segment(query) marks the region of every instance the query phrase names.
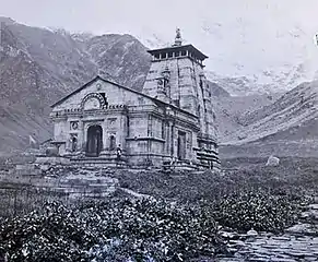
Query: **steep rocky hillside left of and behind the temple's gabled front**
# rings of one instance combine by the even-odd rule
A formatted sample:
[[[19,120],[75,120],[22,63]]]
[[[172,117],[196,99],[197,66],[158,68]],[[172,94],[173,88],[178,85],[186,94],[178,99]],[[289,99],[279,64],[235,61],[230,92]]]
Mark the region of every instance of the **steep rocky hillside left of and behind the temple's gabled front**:
[[[0,152],[27,146],[30,135],[50,138],[49,106],[96,74],[142,87],[150,57],[130,35],[70,35],[0,22]]]

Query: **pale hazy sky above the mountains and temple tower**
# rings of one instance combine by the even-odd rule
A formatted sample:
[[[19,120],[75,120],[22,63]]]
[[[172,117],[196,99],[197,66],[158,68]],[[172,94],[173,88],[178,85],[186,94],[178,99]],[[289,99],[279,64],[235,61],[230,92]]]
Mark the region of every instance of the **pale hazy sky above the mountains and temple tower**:
[[[129,33],[150,47],[153,35],[172,41],[178,26],[210,57],[209,70],[222,74],[299,63],[311,74],[318,70],[318,0],[0,0],[0,16],[71,32]]]

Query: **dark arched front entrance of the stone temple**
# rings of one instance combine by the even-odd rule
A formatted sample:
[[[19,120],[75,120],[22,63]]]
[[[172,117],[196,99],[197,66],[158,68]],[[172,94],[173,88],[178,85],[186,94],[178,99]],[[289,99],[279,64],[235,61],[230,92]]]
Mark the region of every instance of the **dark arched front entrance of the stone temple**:
[[[86,156],[99,156],[103,148],[103,129],[92,126],[87,130]]]

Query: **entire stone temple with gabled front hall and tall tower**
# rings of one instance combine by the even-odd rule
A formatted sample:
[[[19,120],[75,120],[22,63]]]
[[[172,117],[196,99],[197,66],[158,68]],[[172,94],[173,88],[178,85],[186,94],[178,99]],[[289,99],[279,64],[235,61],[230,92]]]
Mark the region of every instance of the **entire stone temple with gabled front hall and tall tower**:
[[[203,71],[208,57],[182,45],[179,29],[173,46],[149,52],[142,92],[96,76],[51,106],[60,156],[74,163],[220,168]]]

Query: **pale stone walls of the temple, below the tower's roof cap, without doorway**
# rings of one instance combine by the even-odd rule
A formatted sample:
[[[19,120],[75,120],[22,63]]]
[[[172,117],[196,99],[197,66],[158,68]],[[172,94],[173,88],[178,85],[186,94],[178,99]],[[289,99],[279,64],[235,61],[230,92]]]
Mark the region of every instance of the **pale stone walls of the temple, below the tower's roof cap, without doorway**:
[[[153,61],[144,93],[154,98],[157,98],[157,78],[163,67],[170,71],[169,96],[178,99],[177,106],[162,104],[98,78],[56,104],[51,118],[54,140],[64,142],[60,154],[84,157],[92,126],[101,127],[103,132],[103,143],[98,140],[98,144],[103,144],[104,158],[116,154],[119,144],[128,162],[133,156],[140,158],[131,163],[149,162],[150,154],[156,163],[168,157],[193,160],[197,156],[193,148],[211,150],[215,133],[202,64],[188,57]],[[215,146],[213,150],[217,151]]]

